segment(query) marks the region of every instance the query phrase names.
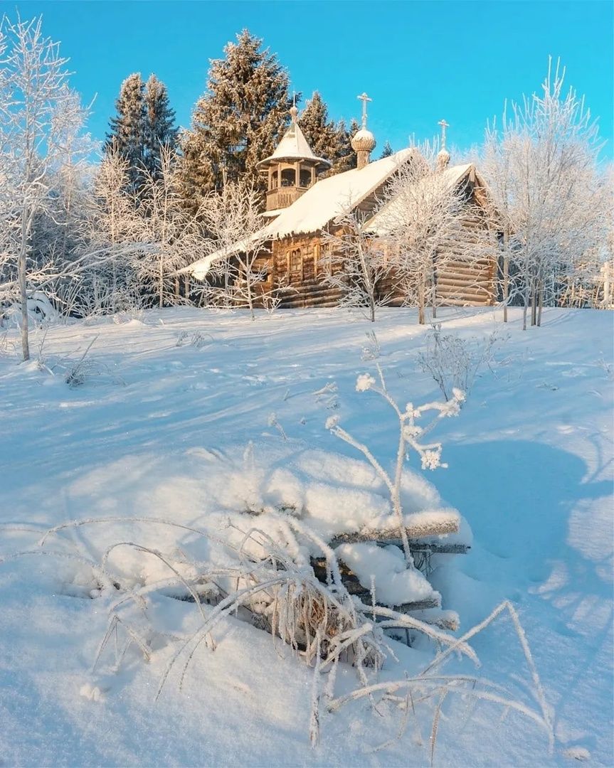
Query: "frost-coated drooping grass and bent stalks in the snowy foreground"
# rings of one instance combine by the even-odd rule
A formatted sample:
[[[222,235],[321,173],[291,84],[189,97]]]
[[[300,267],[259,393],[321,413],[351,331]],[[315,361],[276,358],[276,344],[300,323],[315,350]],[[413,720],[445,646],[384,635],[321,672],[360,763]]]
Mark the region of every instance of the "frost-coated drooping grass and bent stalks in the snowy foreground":
[[[197,663],[197,650],[208,648],[214,652],[215,637],[224,638],[225,622],[236,615],[267,628],[313,667],[310,697],[313,744],[317,743],[325,717],[352,702],[367,700],[378,720],[383,708],[389,714],[398,713],[399,737],[410,719],[416,724],[430,720],[432,763],[441,708],[447,697],[454,696],[490,701],[504,712],[521,713],[543,727],[552,742],[552,715],[518,615],[508,601],[462,637],[455,637],[416,617],[385,606],[365,604],[350,595],[340,578],[337,554],[296,516],[265,511],[257,518],[244,514],[233,519],[223,536],[220,531],[199,530],[155,518],[72,521],[48,531],[38,542],[38,548],[0,558],[0,563],[38,554],[74,562],[75,568],[83,572],[89,570],[87,594],[108,608],[108,626],[95,655],[94,669],[110,662],[111,671],[117,671],[131,649],[146,661],[154,660],[161,652],[168,662],[161,675],[158,696],[171,678],[176,679],[180,687],[186,684],[191,665]],[[85,556],[63,548],[58,541],[61,531],[118,523],[128,525],[131,537],[137,541],[115,541],[98,560],[91,559],[89,547]],[[227,560],[225,563],[201,562],[188,557],[180,548],[162,552],[138,544],[140,525],[144,525],[141,534],[151,527],[162,527],[169,532],[181,531],[192,540],[194,536],[205,538],[207,547],[221,547],[227,553]],[[275,530],[277,535],[271,535]],[[52,544],[54,538],[55,545]],[[77,539],[69,537],[65,545],[69,545],[69,541]],[[301,551],[304,553],[310,547],[320,548],[326,554],[330,573],[327,583],[315,578],[300,557]],[[140,558],[141,568],[146,562],[150,578],[144,581],[127,578],[121,568],[122,558],[116,559],[119,552],[124,553],[123,558],[127,552]],[[174,611],[164,614],[160,601],[171,597],[188,599],[194,604],[197,625],[193,631],[186,634],[181,627],[169,631],[168,617],[178,614]],[[533,703],[514,697],[505,688],[476,674],[446,675],[443,672],[445,664],[456,657],[479,664],[470,641],[504,614],[512,621],[529,670]],[[401,676],[394,677],[391,673],[398,660],[394,641],[386,636],[389,627],[407,627],[432,638],[436,653],[430,659],[420,660],[411,676],[401,670]],[[164,650],[169,646],[174,648],[170,657]],[[348,685],[345,674],[343,686],[337,690],[337,674],[342,669],[349,670],[349,665],[356,675],[356,684]],[[387,674],[380,675],[383,667]]]

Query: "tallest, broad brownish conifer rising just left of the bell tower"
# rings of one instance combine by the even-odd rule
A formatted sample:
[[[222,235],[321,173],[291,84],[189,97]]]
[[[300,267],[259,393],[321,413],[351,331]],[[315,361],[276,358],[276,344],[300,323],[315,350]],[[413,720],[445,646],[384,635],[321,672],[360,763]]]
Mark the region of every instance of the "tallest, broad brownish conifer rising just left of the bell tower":
[[[182,137],[184,194],[196,205],[224,181],[261,184],[256,164],[272,154],[288,124],[287,72],[245,29],[211,61],[207,91]]]

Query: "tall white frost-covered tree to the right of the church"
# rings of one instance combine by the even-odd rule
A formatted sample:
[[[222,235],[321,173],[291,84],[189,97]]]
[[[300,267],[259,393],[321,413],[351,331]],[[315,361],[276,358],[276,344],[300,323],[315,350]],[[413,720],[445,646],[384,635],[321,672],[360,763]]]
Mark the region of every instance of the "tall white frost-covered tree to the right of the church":
[[[539,325],[560,277],[605,244],[606,195],[596,121],[565,71],[549,63],[542,93],[523,98],[486,131],[483,173],[503,229],[503,302],[516,296]],[[511,277],[510,277],[511,276]]]

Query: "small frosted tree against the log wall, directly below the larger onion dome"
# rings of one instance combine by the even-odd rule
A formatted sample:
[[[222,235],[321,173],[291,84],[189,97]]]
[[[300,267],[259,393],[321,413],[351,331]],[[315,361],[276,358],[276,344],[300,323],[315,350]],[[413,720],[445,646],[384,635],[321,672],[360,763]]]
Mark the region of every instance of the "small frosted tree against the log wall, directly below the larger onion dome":
[[[377,306],[390,300],[383,290],[390,262],[383,243],[370,233],[367,219],[360,210],[352,210],[337,217],[324,233],[322,245],[329,254],[324,281],[340,291],[340,306],[360,307],[374,323]]]

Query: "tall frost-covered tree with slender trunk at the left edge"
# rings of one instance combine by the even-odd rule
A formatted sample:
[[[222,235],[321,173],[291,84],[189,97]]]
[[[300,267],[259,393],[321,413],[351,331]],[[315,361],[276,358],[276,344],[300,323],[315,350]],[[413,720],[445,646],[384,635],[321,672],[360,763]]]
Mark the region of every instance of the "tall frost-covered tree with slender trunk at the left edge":
[[[0,293],[21,305],[22,353],[30,356],[28,300],[57,280],[61,263],[39,263],[35,223],[57,206],[58,174],[83,161],[85,111],[68,87],[67,59],[41,18],[0,26]],[[89,148],[89,147],[88,147]],[[68,180],[68,177],[66,177]]]

